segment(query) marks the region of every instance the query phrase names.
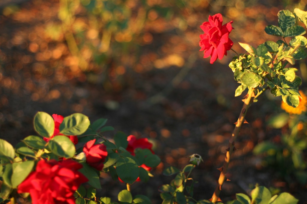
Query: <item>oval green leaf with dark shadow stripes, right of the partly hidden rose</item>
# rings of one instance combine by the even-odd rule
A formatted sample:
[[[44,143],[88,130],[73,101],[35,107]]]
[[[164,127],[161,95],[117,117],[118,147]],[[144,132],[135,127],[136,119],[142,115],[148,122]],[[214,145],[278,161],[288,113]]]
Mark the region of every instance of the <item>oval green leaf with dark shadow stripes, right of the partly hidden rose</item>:
[[[87,116],[81,113],[74,113],[63,119],[60,124],[60,133],[64,135],[80,135],[87,130],[89,125],[90,120]]]

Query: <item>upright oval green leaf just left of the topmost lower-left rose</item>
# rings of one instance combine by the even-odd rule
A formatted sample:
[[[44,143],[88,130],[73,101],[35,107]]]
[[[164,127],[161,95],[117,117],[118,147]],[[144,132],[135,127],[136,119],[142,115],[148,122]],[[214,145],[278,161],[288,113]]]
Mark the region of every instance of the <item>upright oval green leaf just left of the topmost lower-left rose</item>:
[[[54,119],[45,112],[37,112],[34,116],[34,129],[38,134],[49,138],[54,132]]]

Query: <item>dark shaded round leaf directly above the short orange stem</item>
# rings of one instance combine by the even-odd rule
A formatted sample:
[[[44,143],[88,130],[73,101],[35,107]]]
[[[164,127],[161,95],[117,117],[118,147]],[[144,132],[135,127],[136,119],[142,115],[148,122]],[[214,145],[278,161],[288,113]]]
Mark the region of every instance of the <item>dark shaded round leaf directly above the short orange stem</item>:
[[[138,164],[130,157],[119,158],[116,163],[116,173],[125,183],[134,183],[140,174]]]

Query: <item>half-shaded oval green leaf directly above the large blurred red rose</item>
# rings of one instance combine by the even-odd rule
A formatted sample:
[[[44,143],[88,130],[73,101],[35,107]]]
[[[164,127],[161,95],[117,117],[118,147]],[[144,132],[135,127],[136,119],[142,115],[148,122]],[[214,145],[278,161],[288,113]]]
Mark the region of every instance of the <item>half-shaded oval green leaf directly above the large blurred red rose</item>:
[[[76,153],[74,143],[64,135],[58,135],[49,140],[48,147],[59,157],[72,158]]]

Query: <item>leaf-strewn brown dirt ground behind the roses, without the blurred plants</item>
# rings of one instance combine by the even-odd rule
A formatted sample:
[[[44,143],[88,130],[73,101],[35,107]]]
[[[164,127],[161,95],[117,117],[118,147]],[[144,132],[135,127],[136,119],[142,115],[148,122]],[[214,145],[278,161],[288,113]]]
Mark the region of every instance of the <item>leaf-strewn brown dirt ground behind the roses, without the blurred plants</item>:
[[[57,20],[56,0],[24,2],[17,5],[16,13],[1,15],[0,137],[15,145],[22,138],[35,135],[33,116],[37,111],[64,116],[81,112],[91,121],[107,118],[107,124],[115,130],[150,138],[162,160],[163,164],[153,171],[155,178],[148,184],[132,185],[132,192],[161,203],[157,187],[171,179],[161,175],[163,168],[169,165],[182,168],[188,164],[189,155],[198,153],[204,163],[192,174],[199,181],[195,197],[210,198],[219,176],[216,168],[223,161],[242,97],[234,97],[237,84],[227,65],[233,53],[209,64],[209,59],[203,59],[203,53],[198,51],[201,34],[198,26],[208,19],[208,14],[226,13],[227,20],[234,20],[234,49],[242,52],[238,41],[257,45],[264,39],[277,40],[263,29],[276,24],[278,10],[285,8],[279,1],[259,1],[242,10],[238,6],[216,6],[214,2],[217,1],[188,14],[196,22],[185,32],[175,29],[155,32],[152,28],[153,40],[141,47],[138,62],[146,69],[136,71],[135,67],[128,67],[119,89],[107,89],[101,81],[91,80],[93,75],[99,78],[103,73],[73,71],[73,59],[65,41],[52,41],[45,36],[45,25]],[[60,57],[55,56],[56,49],[62,49]],[[185,63],[157,68],[158,62],[172,54]],[[263,95],[249,109],[249,124],[244,124],[236,143],[238,150],[227,176],[231,181],[223,186],[223,201],[234,199],[235,193],[249,193],[258,183],[290,192],[300,203],[307,203],[306,186],[295,180],[286,182],[273,169],[262,168],[260,158],[251,152],[258,142],[281,134],[280,130],[266,126],[267,117],[281,111],[280,100]],[[117,195],[125,188],[108,176],[102,182],[111,186],[103,187],[100,193],[104,196]]]

